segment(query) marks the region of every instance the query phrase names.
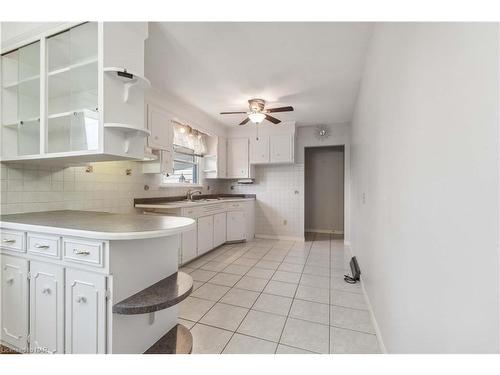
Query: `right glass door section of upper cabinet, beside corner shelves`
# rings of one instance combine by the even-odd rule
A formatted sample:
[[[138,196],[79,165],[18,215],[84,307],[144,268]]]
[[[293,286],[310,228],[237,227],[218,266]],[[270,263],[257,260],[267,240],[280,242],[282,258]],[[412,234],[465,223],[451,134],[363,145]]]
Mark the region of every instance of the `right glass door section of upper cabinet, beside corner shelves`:
[[[47,38],[47,153],[98,149],[97,43],[97,22]]]

